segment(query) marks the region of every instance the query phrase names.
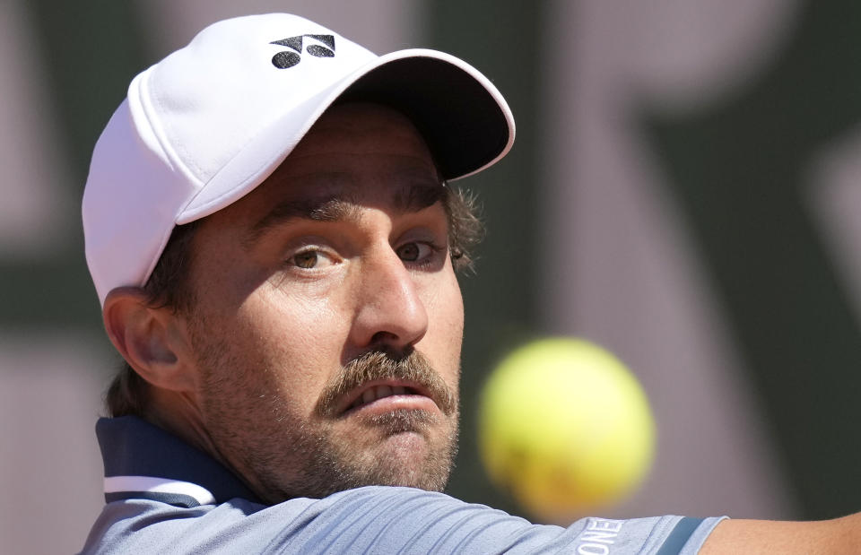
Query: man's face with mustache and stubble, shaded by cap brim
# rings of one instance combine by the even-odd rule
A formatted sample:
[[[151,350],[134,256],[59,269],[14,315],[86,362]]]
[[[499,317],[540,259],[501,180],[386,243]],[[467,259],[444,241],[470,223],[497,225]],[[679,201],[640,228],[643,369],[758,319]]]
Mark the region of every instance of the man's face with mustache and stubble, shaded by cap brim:
[[[200,420],[264,499],[444,487],[464,316],[444,194],[405,117],[345,104],[196,232]]]

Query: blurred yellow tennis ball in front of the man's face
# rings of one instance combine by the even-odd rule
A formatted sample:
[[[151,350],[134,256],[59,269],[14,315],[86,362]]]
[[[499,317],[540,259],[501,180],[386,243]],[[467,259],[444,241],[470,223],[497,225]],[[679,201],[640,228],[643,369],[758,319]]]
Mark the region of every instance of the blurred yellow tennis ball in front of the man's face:
[[[491,481],[545,522],[631,493],[651,466],[655,423],[637,379],[587,341],[513,351],[483,387],[479,442]]]

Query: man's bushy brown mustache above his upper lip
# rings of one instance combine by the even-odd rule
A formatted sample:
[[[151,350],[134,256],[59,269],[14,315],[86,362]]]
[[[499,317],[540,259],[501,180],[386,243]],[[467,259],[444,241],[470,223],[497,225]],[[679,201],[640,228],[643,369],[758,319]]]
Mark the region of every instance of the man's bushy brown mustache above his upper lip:
[[[457,410],[457,395],[439,377],[431,361],[419,351],[398,354],[388,351],[369,351],[345,364],[323,388],[317,401],[319,416],[338,415],[338,401],[352,390],[372,380],[398,379],[421,386],[443,414]]]

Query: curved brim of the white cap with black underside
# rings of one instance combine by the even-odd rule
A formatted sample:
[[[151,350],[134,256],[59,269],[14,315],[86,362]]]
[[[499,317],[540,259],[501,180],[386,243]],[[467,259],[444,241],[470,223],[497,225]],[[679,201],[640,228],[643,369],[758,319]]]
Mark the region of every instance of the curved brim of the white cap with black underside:
[[[410,117],[446,180],[487,168],[514,143],[511,110],[483,74],[443,52],[400,50],[378,57],[275,119],[181,209],[177,223],[203,218],[247,195],[277,169],[327,108],[348,100],[385,104]]]

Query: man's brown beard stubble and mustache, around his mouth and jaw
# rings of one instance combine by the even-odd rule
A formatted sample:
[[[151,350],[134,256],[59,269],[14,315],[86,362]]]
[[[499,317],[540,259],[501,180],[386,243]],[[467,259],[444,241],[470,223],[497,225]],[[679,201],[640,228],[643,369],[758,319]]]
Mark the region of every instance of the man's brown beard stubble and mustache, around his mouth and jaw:
[[[206,429],[222,461],[261,499],[321,499],[368,485],[445,488],[457,455],[457,391],[419,351],[370,351],[351,360],[326,384],[308,418],[265,379],[277,375],[271,369],[237,372],[244,367],[230,360],[223,343],[195,346],[205,369]],[[386,378],[422,386],[439,413],[398,410],[344,430],[344,415],[335,410],[341,395]]]

